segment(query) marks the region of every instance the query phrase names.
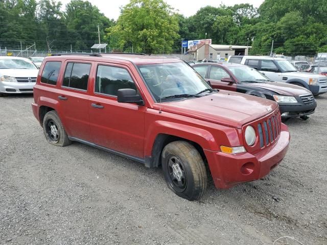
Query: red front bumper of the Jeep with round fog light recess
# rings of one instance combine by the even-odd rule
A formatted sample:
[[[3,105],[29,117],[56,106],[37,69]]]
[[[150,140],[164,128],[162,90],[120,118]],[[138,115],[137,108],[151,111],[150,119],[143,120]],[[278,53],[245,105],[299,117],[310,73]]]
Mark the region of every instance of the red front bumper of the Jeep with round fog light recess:
[[[204,150],[217,188],[230,188],[238,183],[259,180],[283,160],[288,150],[290,134],[282,124],[278,140],[258,154],[227,154]]]

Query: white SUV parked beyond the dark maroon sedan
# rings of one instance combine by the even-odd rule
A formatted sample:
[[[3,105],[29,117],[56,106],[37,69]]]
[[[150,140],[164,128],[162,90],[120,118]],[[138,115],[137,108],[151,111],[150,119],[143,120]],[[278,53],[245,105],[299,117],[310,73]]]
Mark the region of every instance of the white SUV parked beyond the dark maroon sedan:
[[[248,65],[272,81],[291,83],[310,90],[313,95],[327,92],[327,78],[309,72],[299,72],[289,61],[266,56],[230,56],[228,62]]]

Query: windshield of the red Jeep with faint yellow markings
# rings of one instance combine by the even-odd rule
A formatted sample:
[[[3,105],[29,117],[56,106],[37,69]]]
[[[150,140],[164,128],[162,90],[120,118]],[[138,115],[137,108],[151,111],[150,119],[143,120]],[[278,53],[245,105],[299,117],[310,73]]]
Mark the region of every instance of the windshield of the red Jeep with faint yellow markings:
[[[183,100],[185,97],[199,97],[213,92],[203,78],[184,62],[146,64],[137,67],[157,102],[160,98],[173,99],[172,96],[176,95],[185,95],[175,98]]]

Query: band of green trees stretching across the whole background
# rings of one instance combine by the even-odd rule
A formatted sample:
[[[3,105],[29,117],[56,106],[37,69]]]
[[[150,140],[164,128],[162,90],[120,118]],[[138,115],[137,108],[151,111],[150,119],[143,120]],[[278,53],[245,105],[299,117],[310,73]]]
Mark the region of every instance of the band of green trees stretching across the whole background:
[[[131,0],[115,22],[87,1],[62,10],[56,0],[0,0],[0,46],[20,49],[36,42],[48,49],[89,51],[98,41],[123,51],[180,52],[181,38],[211,38],[216,44],[251,45],[251,54],[315,55],[327,51],[327,0],[265,0],[200,8],[185,17],[165,0]],[[251,41],[253,37],[253,41]]]

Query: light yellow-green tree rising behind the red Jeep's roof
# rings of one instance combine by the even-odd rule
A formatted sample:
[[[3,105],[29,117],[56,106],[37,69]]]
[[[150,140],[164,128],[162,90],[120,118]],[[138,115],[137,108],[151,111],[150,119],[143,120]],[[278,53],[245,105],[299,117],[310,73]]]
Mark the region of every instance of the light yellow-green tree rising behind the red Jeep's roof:
[[[163,0],[131,0],[121,9],[117,24],[107,29],[110,45],[145,53],[172,51],[179,38],[178,20]]]

